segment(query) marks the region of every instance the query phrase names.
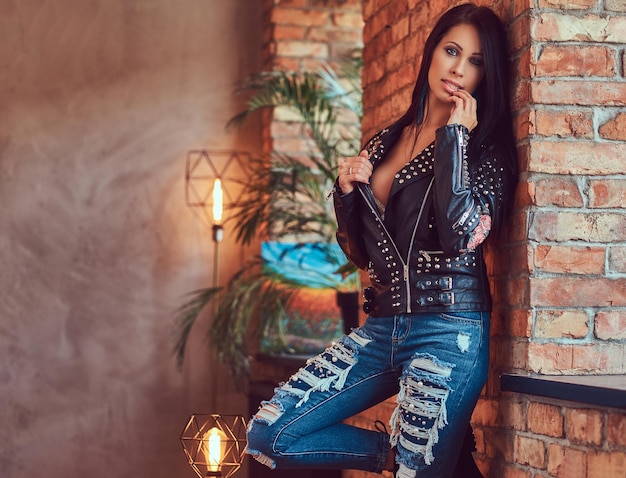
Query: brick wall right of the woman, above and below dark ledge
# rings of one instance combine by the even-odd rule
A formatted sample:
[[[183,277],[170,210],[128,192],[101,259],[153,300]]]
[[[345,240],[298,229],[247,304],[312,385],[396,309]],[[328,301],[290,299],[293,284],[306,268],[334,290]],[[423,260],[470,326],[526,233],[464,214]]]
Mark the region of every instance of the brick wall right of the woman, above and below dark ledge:
[[[493,255],[500,306],[478,458],[494,477],[621,477],[623,411],[502,393],[498,374],[625,371],[626,4],[510,8],[523,175],[511,242]]]

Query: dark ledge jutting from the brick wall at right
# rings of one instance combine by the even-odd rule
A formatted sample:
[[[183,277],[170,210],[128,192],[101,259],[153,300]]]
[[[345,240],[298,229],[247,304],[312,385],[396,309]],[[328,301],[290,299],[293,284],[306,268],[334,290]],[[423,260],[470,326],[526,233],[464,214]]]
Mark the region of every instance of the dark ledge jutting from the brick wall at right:
[[[626,375],[500,375],[506,392],[626,409]]]

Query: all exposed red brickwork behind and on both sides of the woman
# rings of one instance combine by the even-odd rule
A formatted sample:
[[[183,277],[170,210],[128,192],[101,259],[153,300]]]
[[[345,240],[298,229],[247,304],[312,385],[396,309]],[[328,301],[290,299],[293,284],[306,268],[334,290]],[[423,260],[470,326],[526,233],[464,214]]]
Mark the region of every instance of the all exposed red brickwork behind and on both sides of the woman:
[[[267,68],[315,69],[360,43],[368,137],[410,101],[434,19],[459,1],[267,0]],[[509,240],[490,251],[492,372],[474,414],[493,478],[626,474],[623,411],[501,392],[507,371],[623,374],[626,343],[626,4],[478,1],[510,29],[521,184]],[[269,121],[272,118],[268,118]],[[297,153],[275,114],[266,151]],[[301,138],[300,138],[301,139]],[[372,427],[393,401],[355,417]],[[346,471],[345,478],[375,477]]]

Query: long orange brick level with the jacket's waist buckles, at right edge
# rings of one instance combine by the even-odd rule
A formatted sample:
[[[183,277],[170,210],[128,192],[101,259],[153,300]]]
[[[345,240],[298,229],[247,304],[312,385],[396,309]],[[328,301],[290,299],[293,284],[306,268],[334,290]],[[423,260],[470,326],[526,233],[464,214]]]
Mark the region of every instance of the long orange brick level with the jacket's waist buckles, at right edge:
[[[530,301],[548,307],[620,307],[626,305],[626,279],[530,278]]]

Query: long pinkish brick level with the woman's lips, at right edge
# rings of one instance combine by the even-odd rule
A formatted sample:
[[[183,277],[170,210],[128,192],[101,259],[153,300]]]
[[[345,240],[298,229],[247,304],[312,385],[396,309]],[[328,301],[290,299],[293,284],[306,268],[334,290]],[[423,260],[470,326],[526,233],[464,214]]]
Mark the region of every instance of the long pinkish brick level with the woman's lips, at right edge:
[[[548,105],[626,106],[626,83],[591,80],[537,80],[530,85],[533,103]]]

